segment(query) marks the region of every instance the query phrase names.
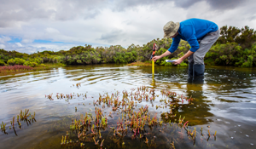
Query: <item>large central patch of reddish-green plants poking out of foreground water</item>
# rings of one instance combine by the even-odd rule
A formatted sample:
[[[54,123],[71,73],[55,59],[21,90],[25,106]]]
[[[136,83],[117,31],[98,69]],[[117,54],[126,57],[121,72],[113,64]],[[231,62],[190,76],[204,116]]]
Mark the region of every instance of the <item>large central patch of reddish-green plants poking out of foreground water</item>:
[[[80,83],[73,86],[79,88]],[[45,98],[69,103],[76,98],[87,100],[87,95],[57,93],[55,96],[45,95]],[[194,101],[192,96],[145,86],[131,89],[131,92],[99,94],[98,99],[89,104],[95,106],[94,110],[72,119],[67,133],[60,138],[60,144],[62,147],[81,148],[92,145],[98,148],[176,148],[191,142],[193,146],[200,143],[200,146],[208,147],[207,142],[216,140],[217,132],[209,127],[206,131],[202,127],[197,130],[178,112],[183,106],[194,105]],[[79,105],[85,106],[84,103]],[[79,107],[75,106],[75,112],[78,110]]]

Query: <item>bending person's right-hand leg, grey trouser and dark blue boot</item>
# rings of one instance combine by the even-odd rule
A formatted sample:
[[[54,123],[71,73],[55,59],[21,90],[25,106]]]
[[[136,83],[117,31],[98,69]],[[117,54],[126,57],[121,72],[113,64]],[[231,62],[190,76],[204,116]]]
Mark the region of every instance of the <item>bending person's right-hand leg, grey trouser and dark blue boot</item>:
[[[204,57],[211,49],[212,44],[217,41],[219,37],[219,30],[216,32],[207,33],[207,35],[201,39],[200,48],[193,54],[193,76],[203,77],[205,72]]]

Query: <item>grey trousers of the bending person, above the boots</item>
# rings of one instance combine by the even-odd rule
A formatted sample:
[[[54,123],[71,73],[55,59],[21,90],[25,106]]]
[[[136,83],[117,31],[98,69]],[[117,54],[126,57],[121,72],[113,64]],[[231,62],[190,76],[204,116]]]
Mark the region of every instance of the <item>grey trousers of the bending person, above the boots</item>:
[[[217,41],[218,37],[219,29],[216,32],[207,33],[205,37],[198,40],[199,49],[197,49],[194,54],[189,56],[189,64],[204,65],[204,57],[209,49],[211,49],[212,44]]]

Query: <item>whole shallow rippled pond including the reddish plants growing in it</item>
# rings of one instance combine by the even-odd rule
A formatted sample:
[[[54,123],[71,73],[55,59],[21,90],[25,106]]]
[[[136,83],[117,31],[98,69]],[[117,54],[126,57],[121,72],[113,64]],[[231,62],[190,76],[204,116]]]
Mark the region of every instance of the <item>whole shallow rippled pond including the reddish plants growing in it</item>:
[[[187,67],[154,72],[102,64],[0,76],[0,146],[256,146],[255,68],[207,66],[203,83],[188,82]]]

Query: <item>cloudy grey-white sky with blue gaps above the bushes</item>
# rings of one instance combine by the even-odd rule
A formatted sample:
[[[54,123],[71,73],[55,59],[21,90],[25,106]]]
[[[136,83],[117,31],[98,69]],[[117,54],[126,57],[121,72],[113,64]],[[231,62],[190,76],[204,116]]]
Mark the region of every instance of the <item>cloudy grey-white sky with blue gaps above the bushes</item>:
[[[0,49],[24,53],[91,44],[143,45],[172,20],[256,29],[255,0],[0,0]]]

